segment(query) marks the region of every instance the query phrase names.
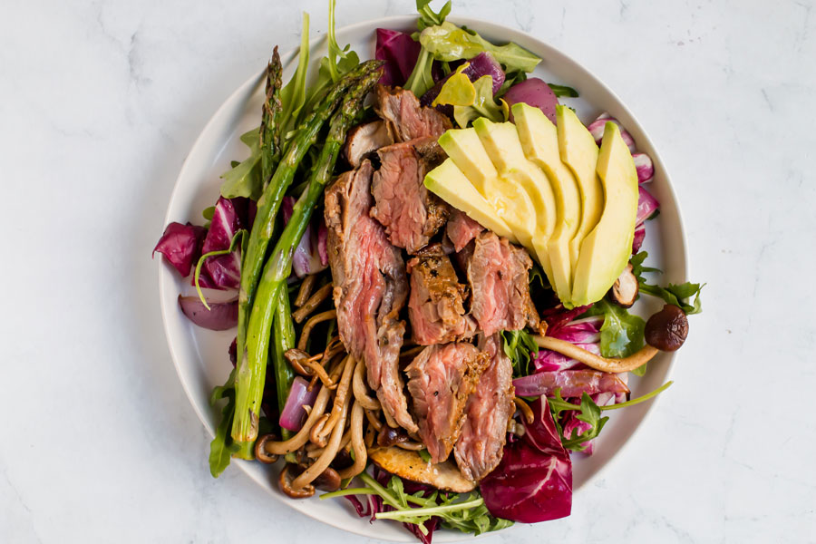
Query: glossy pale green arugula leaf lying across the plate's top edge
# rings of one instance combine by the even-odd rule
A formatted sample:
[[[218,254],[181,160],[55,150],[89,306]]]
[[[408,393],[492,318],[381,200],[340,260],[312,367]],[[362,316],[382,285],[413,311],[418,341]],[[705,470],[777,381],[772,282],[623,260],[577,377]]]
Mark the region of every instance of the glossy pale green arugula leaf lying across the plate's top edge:
[[[467,60],[487,51],[504,65],[505,72],[532,72],[541,62],[540,57],[518,44],[493,45],[479,34],[447,22],[423,29],[419,41],[437,61]]]

